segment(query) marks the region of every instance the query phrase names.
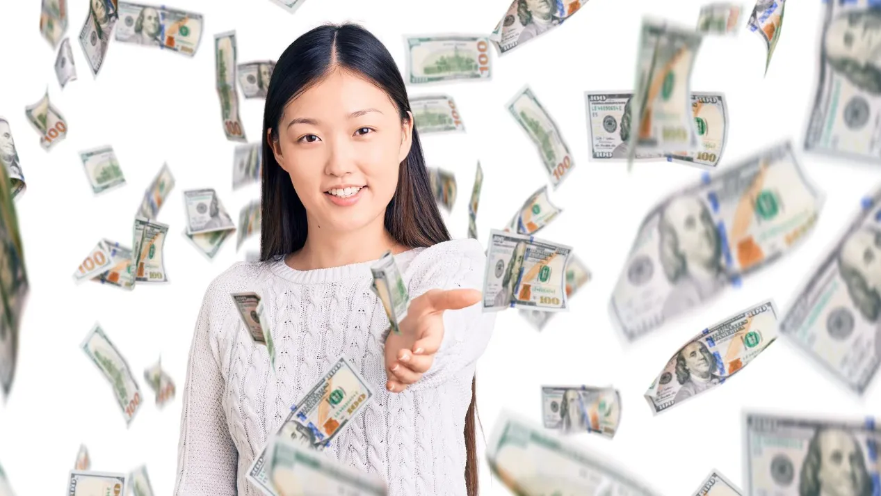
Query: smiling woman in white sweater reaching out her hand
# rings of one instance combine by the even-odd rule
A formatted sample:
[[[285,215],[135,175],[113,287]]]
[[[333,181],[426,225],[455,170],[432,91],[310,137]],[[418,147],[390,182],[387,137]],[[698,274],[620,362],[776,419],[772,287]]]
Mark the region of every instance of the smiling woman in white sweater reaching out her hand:
[[[389,494],[477,494],[476,360],[494,317],[485,255],[449,241],[389,51],[359,26],[320,26],[278,59],[263,113],[260,262],[208,288],[189,358],[175,494],[259,494],[247,470],[344,355],[374,389],[327,450]],[[411,305],[389,333],[370,265],[395,254]],[[456,289],[460,288],[460,289]],[[233,307],[263,298],[275,370]]]

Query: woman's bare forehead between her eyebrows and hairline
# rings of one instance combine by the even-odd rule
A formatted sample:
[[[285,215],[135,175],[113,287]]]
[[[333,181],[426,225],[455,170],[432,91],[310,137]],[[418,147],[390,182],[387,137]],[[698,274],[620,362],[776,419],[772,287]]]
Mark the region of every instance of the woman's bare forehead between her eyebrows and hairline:
[[[352,112],[375,108],[396,115],[389,95],[363,76],[348,70],[331,72],[291,100],[285,117],[315,117],[321,121],[344,119]]]

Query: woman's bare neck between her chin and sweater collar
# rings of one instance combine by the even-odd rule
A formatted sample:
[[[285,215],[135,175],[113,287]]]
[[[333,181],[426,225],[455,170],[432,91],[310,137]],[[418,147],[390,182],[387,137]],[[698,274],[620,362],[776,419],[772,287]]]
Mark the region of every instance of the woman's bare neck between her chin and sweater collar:
[[[285,263],[294,270],[327,269],[376,260],[389,249],[398,254],[406,248],[385,228],[385,212],[366,226],[338,231],[322,228],[308,218],[308,235],[303,248],[287,255]]]

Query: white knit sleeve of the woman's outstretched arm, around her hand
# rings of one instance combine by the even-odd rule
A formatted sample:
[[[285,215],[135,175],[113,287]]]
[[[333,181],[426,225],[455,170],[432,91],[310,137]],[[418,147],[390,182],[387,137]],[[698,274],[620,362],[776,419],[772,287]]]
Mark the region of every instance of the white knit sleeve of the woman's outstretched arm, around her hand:
[[[447,241],[426,249],[420,255],[424,260],[414,261],[418,266],[411,277],[411,298],[417,298],[431,289],[470,288],[483,291],[486,256],[478,241]],[[474,364],[489,344],[496,314],[484,313],[482,301],[459,310],[445,311],[441,349],[434,355],[432,367],[407,389],[418,391],[436,388],[463,368]]]

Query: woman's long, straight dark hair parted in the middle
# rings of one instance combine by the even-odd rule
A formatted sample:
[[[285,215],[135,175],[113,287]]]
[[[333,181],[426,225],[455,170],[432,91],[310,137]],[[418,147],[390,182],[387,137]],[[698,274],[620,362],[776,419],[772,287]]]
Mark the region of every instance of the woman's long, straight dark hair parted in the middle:
[[[293,189],[291,178],[278,165],[270,139],[278,140],[285,106],[322,81],[333,69],[349,70],[380,87],[395,103],[402,122],[410,119],[410,100],[389,50],[372,33],[353,24],[318,26],[291,43],[278,57],[266,92],[263,110],[263,227],[260,260],[277,259],[303,248],[307,237],[306,208]],[[272,130],[272,136],[268,135]],[[391,237],[409,248],[430,247],[449,241],[449,232],[434,203],[417,130],[407,158],[398,169],[397,189],[385,212]],[[478,493],[475,439],[477,384],[471,380],[471,403],[465,414],[465,485],[469,496]]]

